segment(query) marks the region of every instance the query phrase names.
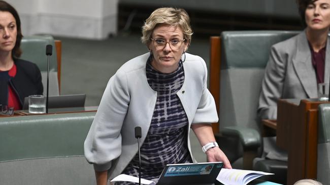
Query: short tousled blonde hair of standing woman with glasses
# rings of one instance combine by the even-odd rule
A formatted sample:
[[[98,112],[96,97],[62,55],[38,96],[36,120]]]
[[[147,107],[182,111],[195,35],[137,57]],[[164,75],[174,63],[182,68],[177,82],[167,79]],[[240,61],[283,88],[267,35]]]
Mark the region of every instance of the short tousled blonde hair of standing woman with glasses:
[[[190,27],[190,18],[185,10],[178,8],[159,8],[153,11],[142,26],[142,43],[147,46],[149,45],[152,32],[159,24],[180,26],[183,32],[183,38],[190,43],[192,29]]]

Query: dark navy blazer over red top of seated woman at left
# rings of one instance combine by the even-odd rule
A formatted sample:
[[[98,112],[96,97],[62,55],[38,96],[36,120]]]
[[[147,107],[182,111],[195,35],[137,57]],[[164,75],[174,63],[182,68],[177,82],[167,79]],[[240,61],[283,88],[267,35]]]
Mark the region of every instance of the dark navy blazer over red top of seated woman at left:
[[[32,62],[14,59],[16,75],[14,78],[0,77],[0,104],[8,105],[8,84],[14,89],[20,105],[29,95],[42,95],[44,87],[38,66]]]

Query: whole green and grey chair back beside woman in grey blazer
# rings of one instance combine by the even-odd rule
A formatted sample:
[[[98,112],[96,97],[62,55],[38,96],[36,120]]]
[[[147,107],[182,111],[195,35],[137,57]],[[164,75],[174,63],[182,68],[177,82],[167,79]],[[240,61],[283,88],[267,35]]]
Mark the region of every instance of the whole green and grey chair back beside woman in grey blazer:
[[[224,31],[221,33],[220,129],[259,130],[256,110],[261,81],[273,44],[298,31]]]

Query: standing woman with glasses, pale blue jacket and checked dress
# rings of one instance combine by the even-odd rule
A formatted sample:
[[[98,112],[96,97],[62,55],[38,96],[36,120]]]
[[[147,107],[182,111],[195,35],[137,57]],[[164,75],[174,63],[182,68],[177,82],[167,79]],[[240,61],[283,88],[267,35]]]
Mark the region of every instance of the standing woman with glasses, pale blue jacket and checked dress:
[[[195,161],[190,128],[205,146],[208,161],[231,168],[209,124],[218,115],[207,89],[205,61],[185,53],[192,35],[188,14],[159,8],[142,34],[149,52],[126,62],[110,78],[84,144],[97,184],[121,173],[138,176],[136,126],[142,127],[142,178],[157,181],[166,164]]]

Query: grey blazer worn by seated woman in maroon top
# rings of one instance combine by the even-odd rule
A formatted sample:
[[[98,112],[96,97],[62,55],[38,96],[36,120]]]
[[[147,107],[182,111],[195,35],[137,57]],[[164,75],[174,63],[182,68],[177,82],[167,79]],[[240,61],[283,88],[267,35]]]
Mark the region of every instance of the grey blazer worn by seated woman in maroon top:
[[[329,39],[326,41],[324,82],[329,82]],[[274,44],[261,84],[258,116],[277,118],[278,99],[317,98],[317,81],[306,32]]]

